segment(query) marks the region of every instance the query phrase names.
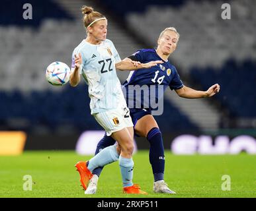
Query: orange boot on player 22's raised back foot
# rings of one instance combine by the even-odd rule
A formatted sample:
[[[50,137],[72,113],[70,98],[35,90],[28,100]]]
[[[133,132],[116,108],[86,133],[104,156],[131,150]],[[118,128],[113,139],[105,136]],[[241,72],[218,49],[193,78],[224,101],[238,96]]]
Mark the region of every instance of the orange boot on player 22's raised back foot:
[[[91,177],[93,177],[93,174],[91,173],[91,171],[89,169],[87,169],[86,166],[87,162],[83,162],[83,161],[79,161],[77,162],[77,164],[75,164],[75,167],[77,168],[77,171],[80,174],[80,182],[81,182],[81,186],[83,186],[83,189],[86,190],[89,180],[91,179]]]

